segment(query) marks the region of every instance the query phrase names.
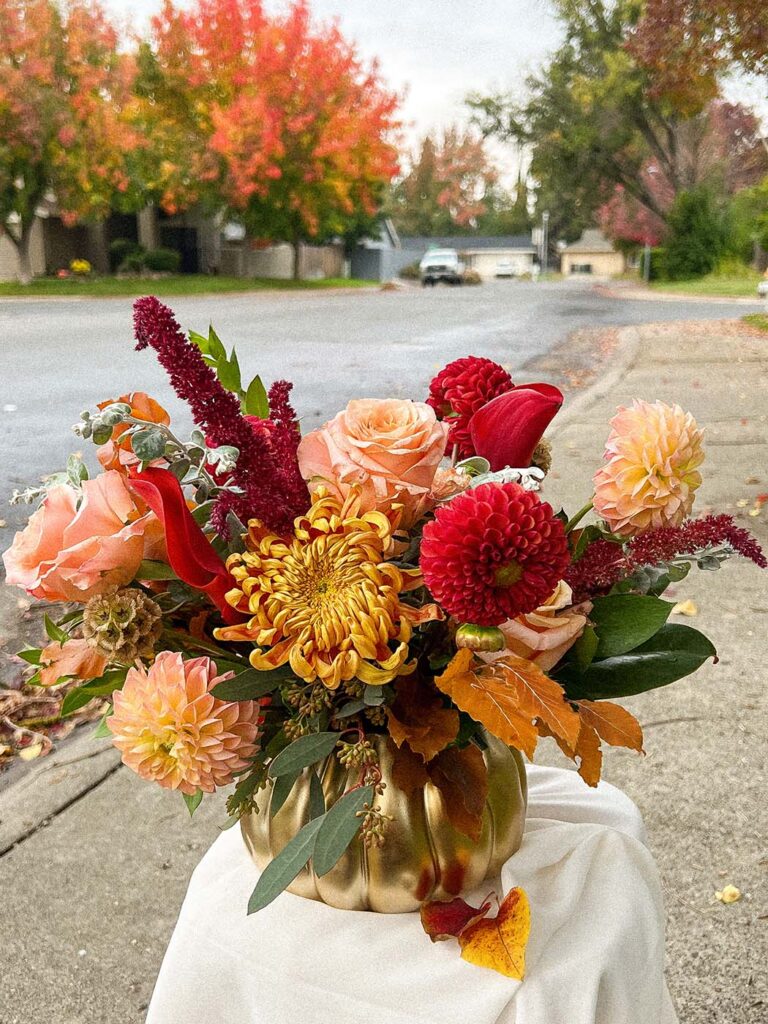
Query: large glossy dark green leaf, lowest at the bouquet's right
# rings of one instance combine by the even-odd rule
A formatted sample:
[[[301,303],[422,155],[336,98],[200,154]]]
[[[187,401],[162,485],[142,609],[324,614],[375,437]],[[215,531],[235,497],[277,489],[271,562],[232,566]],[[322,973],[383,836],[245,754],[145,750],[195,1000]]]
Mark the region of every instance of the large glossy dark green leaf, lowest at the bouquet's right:
[[[714,645],[690,626],[663,626],[625,654],[595,660],[584,675],[559,677],[573,699],[611,700],[668,686],[716,657]]]

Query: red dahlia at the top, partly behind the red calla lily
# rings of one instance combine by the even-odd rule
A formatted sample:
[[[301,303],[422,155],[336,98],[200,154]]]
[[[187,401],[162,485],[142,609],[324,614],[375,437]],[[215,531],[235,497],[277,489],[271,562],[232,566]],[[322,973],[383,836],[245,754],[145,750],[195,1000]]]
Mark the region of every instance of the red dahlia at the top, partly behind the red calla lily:
[[[469,421],[478,409],[512,387],[512,378],[493,359],[467,355],[449,362],[432,380],[427,398],[438,420],[452,417],[445,451],[453,452],[456,444],[460,458],[473,456]]]

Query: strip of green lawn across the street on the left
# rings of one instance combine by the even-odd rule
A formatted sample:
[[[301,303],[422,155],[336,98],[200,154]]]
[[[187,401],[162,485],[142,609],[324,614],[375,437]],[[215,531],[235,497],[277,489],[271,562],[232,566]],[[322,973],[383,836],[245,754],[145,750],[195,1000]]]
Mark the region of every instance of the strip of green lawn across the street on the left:
[[[133,296],[210,295],[217,292],[305,291],[326,288],[370,288],[374,281],[325,278],[322,281],[272,281],[266,278],[214,278],[208,274],[178,274],[169,278],[38,278],[31,285],[0,282],[0,298],[27,296]]]

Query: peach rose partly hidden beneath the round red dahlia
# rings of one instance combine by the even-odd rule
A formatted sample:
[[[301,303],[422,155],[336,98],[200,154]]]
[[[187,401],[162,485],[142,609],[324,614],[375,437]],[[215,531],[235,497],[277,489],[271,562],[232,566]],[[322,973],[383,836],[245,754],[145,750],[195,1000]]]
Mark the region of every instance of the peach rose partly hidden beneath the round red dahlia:
[[[573,592],[561,580],[544,604],[499,627],[507,641],[504,650],[479,656],[485,662],[495,662],[506,654],[516,654],[535,662],[543,672],[549,672],[573,646],[589,621],[592,603],[585,601],[574,605],[572,600]]]

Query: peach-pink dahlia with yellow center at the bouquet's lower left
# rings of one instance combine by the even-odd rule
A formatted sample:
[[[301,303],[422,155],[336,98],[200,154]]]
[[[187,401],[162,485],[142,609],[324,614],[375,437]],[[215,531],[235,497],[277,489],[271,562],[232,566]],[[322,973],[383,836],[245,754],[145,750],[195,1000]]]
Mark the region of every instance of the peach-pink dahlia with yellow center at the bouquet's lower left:
[[[148,671],[131,669],[106,719],[123,764],[142,778],[188,796],[227,785],[256,752],[257,701],[228,703],[211,689],[218,676],[208,657],[185,662],[163,651]]]

